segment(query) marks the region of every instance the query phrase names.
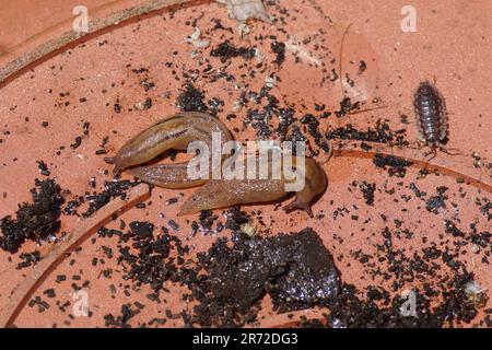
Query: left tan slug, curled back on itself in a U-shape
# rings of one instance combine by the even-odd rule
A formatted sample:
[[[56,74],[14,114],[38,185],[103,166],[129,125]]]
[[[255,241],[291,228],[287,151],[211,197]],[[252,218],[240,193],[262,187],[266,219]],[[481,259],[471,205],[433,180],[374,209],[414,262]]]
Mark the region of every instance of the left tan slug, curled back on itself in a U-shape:
[[[147,163],[167,150],[187,150],[192,141],[203,141],[212,149],[213,132],[220,133],[222,143],[232,140],[231,132],[215,117],[198,112],[176,114],[138,133],[121,147],[114,159],[107,161],[115,164],[114,173],[118,174],[131,166]],[[203,184],[203,179],[188,178],[187,164],[139,166],[131,168],[130,173],[147,183],[166,188],[187,188]]]

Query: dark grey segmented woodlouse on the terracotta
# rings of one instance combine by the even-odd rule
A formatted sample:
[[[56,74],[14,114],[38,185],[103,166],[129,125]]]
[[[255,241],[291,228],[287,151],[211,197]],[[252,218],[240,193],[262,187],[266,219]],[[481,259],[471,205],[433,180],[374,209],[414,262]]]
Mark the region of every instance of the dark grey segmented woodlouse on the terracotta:
[[[429,81],[420,83],[413,98],[419,137],[431,149],[443,148],[448,125],[444,98]]]

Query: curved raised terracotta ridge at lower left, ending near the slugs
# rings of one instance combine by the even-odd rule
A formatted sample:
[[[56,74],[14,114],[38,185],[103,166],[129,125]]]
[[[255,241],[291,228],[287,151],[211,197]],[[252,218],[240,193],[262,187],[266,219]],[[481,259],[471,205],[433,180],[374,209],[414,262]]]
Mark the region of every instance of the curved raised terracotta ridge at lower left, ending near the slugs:
[[[83,241],[91,236],[97,229],[112,220],[114,214],[119,214],[132,208],[136,203],[150,196],[150,187],[147,184],[140,184],[131,188],[126,198],[117,198],[89,219],[81,220],[77,228],[66,236],[66,240],[55,245],[55,247],[45,256],[27,275],[27,277],[12,291],[8,301],[3,303],[0,310],[0,327],[12,326],[15,317],[21,312],[31,295],[37,287],[49,276],[58,264],[60,264],[66,254],[77,248]]]

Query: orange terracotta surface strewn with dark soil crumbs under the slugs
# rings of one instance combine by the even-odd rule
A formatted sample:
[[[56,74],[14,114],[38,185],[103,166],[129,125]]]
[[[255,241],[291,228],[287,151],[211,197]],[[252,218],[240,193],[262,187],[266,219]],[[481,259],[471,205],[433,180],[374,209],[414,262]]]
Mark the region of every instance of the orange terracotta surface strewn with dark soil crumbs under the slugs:
[[[124,236],[89,230],[92,236],[44,276],[26,306],[14,307],[16,317],[9,313],[9,325],[181,327],[187,323],[223,326],[232,322],[247,327],[291,327],[320,319],[323,325],[340,326],[343,312],[359,315],[358,307],[370,301],[384,311],[406,290],[422,293],[427,285],[438,291],[438,296],[430,299],[431,307],[446,300],[461,302],[456,304],[466,313],[453,325],[484,327],[490,322],[487,296],[492,287],[488,235],[492,184],[488,144],[492,120],[485,116],[492,107],[487,86],[492,73],[477,69],[489,67],[483,37],[490,33],[480,30],[487,27],[487,12],[481,4],[470,4],[460,21],[449,26],[446,19],[454,19],[456,13],[447,2],[433,8],[422,2],[418,7],[422,19],[419,32],[408,34],[400,32],[399,9],[362,8],[356,1],[314,4],[268,4],[272,24],[251,21],[250,33],[239,38],[235,21],[220,4],[197,2],[168,10],[160,9],[160,3],[120,18],[125,21],[110,30],[106,26],[113,22],[103,21],[101,27],[92,27],[90,36],[69,46],[55,45],[51,49],[57,51],[49,54],[51,49],[46,49],[30,62],[14,67],[7,63],[11,59],[2,60],[1,79],[7,80],[0,90],[0,203],[2,215],[13,219],[17,203],[32,201],[34,179],[48,178],[39,173],[36,162],[45,162],[49,178],[59,184],[65,208],[80,196],[101,194],[104,182],[112,179],[110,165],[104,158],[114,155],[139,130],[180,108],[216,114],[243,142],[303,135],[309,142],[308,155],[320,163],[326,160],[321,145],[327,141],[323,136],[327,130],[336,151],[323,164],[329,185],[313,206],[314,219],[298,211],[284,213],[277,203],[251,205],[241,208],[249,220],[246,226],[224,228],[227,218],[238,223],[243,217],[235,210],[215,210],[216,219],[210,213],[201,219],[177,217],[180,205],[195,189],[153,188],[144,205],[105,225],[116,230],[113,232],[121,231]],[[129,2],[122,1],[110,9],[126,13],[128,8]],[[149,14],[133,16],[149,10]],[[109,18],[107,12],[97,13]],[[478,24],[470,26],[476,21]],[[187,43],[195,26],[203,39],[210,40],[208,48]],[[465,27],[469,31],[467,37],[460,34]],[[45,43],[48,37],[59,39],[62,33],[61,28],[44,33]],[[442,43],[449,39],[454,44],[443,47]],[[229,46],[221,46],[224,43]],[[32,51],[28,44],[9,54],[23,57]],[[261,51],[262,60],[251,57],[251,47]],[[472,52],[465,66],[452,59],[464,49]],[[22,69],[24,66],[27,68]],[[350,80],[343,79],[347,75]],[[437,152],[426,163],[427,150],[415,145],[412,98],[419,82],[432,81],[433,77],[450,112],[447,147],[459,150],[461,155]],[[270,89],[262,90],[266,82]],[[359,103],[358,107],[343,110],[340,102],[344,97],[350,97],[352,105]],[[298,121],[285,125],[290,110]],[[376,137],[367,129],[376,130]],[[401,129],[405,131],[400,133]],[[398,137],[405,141],[402,144]],[[122,173],[122,179],[132,180],[128,173]],[[86,198],[77,212],[83,213],[89,202]],[[114,205],[110,201],[106,206]],[[104,210],[109,210],[104,208],[85,220],[98,223]],[[80,229],[77,215],[61,214],[60,221],[59,238],[62,233],[87,232]],[[142,261],[132,265],[121,258],[121,249],[128,247],[132,254],[139,249],[134,236],[125,238],[134,222],[152,223],[155,240],[175,237],[181,242],[164,244],[168,256],[152,262],[167,264],[171,270],[159,296],[149,283],[134,280],[145,277],[132,270],[142,267]],[[312,228],[319,236],[319,245],[323,243],[332,255],[340,280],[355,287],[358,302],[338,300],[344,306],[332,308],[313,300],[309,305],[292,305],[276,300],[279,293],[267,285],[251,306],[254,320],[246,322],[248,313],[237,313],[225,323],[215,313],[212,324],[208,324],[203,300],[184,298],[210,293],[210,284],[200,284],[187,273],[197,265],[197,254],[207,253],[221,237],[231,240],[232,231],[273,240],[305,228]],[[19,269],[25,260],[21,254],[37,249],[46,259],[62,243],[63,238],[58,243],[27,241],[13,255],[0,250],[2,315],[10,306],[12,291],[36,269]],[[234,244],[229,242],[222,254]],[[184,246],[186,253],[181,252]],[[157,257],[161,253],[154,252]],[[221,257],[230,262],[227,256]],[[245,264],[249,262],[255,265]],[[42,259],[38,266],[43,264],[47,262]],[[134,275],[128,277],[129,271]],[[156,268],[148,276],[156,271],[163,272]],[[206,272],[202,269],[198,276]],[[449,294],[444,287],[447,282],[459,284],[462,291],[469,281],[484,291],[479,296],[485,304],[473,295]],[[78,290],[86,292],[87,316],[77,313]],[[213,295],[209,296],[213,300]],[[198,311],[197,305],[201,306]],[[330,312],[335,323],[325,317]],[[438,312],[433,315],[436,324],[432,325],[450,325],[438,320]],[[368,317],[361,322],[348,325],[368,326],[373,320]]]

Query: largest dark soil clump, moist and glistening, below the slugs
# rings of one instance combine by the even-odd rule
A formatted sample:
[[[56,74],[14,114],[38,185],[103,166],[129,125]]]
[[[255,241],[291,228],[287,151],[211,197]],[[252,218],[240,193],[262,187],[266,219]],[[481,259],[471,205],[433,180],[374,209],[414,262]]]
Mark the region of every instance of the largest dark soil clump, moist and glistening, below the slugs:
[[[199,257],[209,276],[209,293],[195,310],[201,325],[243,326],[266,293],[284,312],[329,303],[340,291],[331,254],[312,229],[268,238],[236,234],[232,243],[218,240]]]

